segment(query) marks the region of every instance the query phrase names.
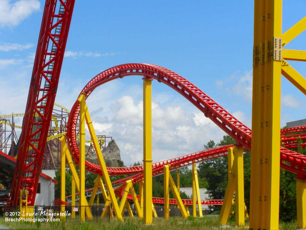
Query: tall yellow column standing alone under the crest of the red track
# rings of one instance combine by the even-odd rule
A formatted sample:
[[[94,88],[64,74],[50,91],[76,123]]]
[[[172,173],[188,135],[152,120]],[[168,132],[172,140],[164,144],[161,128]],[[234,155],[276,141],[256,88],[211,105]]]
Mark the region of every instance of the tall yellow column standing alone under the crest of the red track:
[[[152,79],[144,77],[144,223],[152,224]]]

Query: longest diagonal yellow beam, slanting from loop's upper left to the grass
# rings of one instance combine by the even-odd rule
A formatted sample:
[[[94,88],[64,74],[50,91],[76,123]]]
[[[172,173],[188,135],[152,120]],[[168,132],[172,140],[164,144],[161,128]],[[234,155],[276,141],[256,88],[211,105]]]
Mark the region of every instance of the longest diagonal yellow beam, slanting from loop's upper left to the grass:
[[[98,143],[97,136],[95,134],[95,129],[94,129],[93,125],[92,125],[90,114],[89,114],[89,111],[87,109],[87,105],[86,105],[86,102],[85,102],[86,94],[82,94],[80,96],[80,98],[82,96],[83,96],[84,99],[82,99],[82,103],[80,103],[80,104],[84,104],[85,119],[86,119],[88,130],[89,130],[89,133],[90,133],[90,136],[91,136],[92,144],[93,144],[93,146],[95,148],[97,159],[99,161],[99,165],[100,165],[101,171],[103,173],[103,178],[104,178],[104,181],[106,183],[106,187],[107,187],[108,193],[110,195],[110,201],[112,202],[112,205],[113,205],[113,208],[114,208],[114,212],[115,212],[115,215],[116,215],[117,219],[122,221],[122,216],[121,216],[121,212],[120,212],[120,209],[119,209],[119,205],[117,203],[117,199],[116,199],[116,196],[115,196],[115,193],[114,193],[114,189],[113,189],[111,181],[110,181],[110,177],[109,177],[108,171],[106,169],[106,165],[105,165],[105,162],[104,162],[104,159],[103,159],[103,155],[102,155],[102,152],[101,152],[101,149],[100,149],[100,145]]]

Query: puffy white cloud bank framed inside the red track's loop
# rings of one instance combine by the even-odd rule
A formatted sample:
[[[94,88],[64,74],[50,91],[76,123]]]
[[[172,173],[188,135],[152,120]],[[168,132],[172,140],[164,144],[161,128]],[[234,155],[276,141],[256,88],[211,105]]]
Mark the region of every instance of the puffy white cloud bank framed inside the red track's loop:
[[[96,95],[97,96],[97,95]],[[101,103],[101,102],[100,102]],[[88,108],[99,105],[90,102]],[[107,108],[103,105],[103,108]],[[103,110],[104,111],[104,110]],[[143,101],[125,95],[110,105],[108,117],[92,116],[97,135],[112,136],[126,165],[142,161],[143,157]],[[196,108],[194,111],[198,111]],[[101,120],[101,122],[99,122]],[[104,121],[104,122],[103,122]],[[181,105],[162,108],[152,102],[152,158],[153,161],[173,158],[203,149],[209,140],[218,142],[225,135],[203,113],[185,111]]]

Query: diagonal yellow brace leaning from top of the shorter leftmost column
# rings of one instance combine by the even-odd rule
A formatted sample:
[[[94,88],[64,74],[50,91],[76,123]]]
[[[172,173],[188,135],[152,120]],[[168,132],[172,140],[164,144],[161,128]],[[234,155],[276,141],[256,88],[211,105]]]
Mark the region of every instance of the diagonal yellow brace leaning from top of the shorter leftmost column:
[[[68,165],[69,165],[71,174],[73,175],[74,182],[75,182],[75,185],[76,185],[76,189],[77,189],[77,191],[78,191],[79,194],[80,194],[80,180],[79,180],[79,176],[78,176],[77,173],[76,173],[76,169],[75,169],[75,167],[74,167],[74,164],[73,164],[73,161],[72,161],[72,159],[71,159],[70,153],[69,153],[69,151],[68,151],[68,147],[67,147],[67,144],[66,144],[66,138],[67,138],[67,137],[64,135],[64,136],[62,136],[62,138],[60,138],[59,140],[60,140],[61,143],[62,143],[63,151],[65,152],[66,159],[67,159],[67,163],[68,163]],[[90,208],[88,207],[88,203],[87,203],[85,194],[84,194],[84,198],[85,198],[85,205],[86,205],[86,217],[87,217],[88,219],[92,219],[91,210],[90,210]]]

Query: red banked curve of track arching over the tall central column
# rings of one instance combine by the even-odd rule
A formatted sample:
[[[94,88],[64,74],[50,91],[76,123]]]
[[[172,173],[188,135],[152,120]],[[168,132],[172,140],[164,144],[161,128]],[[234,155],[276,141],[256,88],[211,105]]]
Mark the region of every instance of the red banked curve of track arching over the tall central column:
[[[252,130],[246,125],[238,121],[229,112],[223,109],[218,103],[211,99],[198,87],[191,82],[181,77],[180,75],[170,71],[166,68],[151,65],[151,64],[123,64],[107,69],[96,75],[81,91],[85,93],[86,99],[91,92],[98,86],[109,82],[114,79],[123,78],[130,75],[148,76],[162,82],[172,89],[179,92],[187,98],[193,105],[195,105],[204,115],[210,118],[216,125],[218,125],[224,132],[230,135],[238,146],[244,146],[251,150],[251,134]],[[79,116],[79,103],[76,101],[69,114],[67,122],[67,144],[73,159],[79,163],[79,149],[76,142],[76,124]],[[284,131],[284,133],[290,130]],[[286,148],[280,147],[280,166],[285,170],[297,174],[298,178],[306,178],[306,156],[290,151]],[[86,170],[96,174],[101,173],[100,166],[92,164],[88,161],[85,162]],[[125,167],[125,168],[107,168],[109,174],[134,174],[139,172],[141,167]]]

